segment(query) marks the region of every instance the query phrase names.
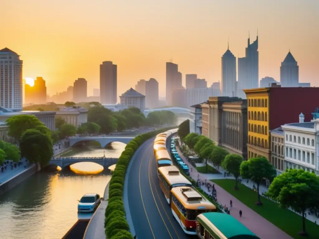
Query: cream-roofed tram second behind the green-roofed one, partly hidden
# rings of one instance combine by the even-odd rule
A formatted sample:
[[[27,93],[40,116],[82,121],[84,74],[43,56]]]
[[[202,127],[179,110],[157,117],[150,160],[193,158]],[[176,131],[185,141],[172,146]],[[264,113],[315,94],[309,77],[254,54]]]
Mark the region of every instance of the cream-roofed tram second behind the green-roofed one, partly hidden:
[[[191,186],[192,183],[184,177],[176,166],[158,168],[159,186],[166,201],[170,204],[171,189],[177,186]]]

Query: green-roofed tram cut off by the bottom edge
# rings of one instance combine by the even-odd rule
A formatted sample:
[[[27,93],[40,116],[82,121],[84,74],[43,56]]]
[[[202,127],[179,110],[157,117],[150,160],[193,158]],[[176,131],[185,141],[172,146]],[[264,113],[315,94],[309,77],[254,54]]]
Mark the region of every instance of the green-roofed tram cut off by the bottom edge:
[[[260,239],[226,213],[203,213],[197,216],[196,234],[200,239]]]

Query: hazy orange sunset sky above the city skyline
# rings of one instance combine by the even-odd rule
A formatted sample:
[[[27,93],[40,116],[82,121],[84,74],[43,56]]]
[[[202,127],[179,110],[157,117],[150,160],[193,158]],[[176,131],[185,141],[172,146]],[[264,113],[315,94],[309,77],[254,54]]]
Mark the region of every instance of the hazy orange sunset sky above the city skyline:
[[[227,49],[244,56],[248,31],[259,31],[259,80],[279,78],[288,50],[300,82],[319,86],[318,0],[1,0],[0,48],[21,55],[23,76],[42,76],[48,94],[79,78],[88,96],[99,88],[100,64],[113,61],[118,94],[139,79],[159,81],[165,96],[165,62],[208,85],[220,81]]]

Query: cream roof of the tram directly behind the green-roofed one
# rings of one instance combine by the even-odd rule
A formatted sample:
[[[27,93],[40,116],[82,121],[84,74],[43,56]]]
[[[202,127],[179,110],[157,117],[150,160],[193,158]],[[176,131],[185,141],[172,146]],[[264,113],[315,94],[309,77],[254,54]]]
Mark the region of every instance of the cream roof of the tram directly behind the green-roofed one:
[[[172,193],[187,209],[216,209],[216,206],[208,201],[202,194],[193,187],[181,186],[172,188]]]

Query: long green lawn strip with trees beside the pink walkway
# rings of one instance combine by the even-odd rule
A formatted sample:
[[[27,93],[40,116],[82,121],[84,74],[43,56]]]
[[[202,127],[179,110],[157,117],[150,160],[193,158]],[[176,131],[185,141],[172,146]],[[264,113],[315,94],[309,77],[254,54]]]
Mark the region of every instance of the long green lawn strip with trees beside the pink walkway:
[[[300,236],[298,234],[298,232],[302,230],[302,217],[300,215],[288,209],[280,208],[277,203],[263,197],[261,197],[263,206],[256,206],[255,202],[257,201],[257,192],[254,192],[241,183],[238,183],[239,190],[235,191],[234,179],[214,179],[211,181],[225,189],[235,198],[240,200],[243,204],[250,207],[256,213],[261,215],[266,220],[270,221],[272,224],[286,232],[291,237],[295,239],[319,238],[319,225],[316,225],[312,221],[306,220],[306,231],[308,232],[308,237]]]

